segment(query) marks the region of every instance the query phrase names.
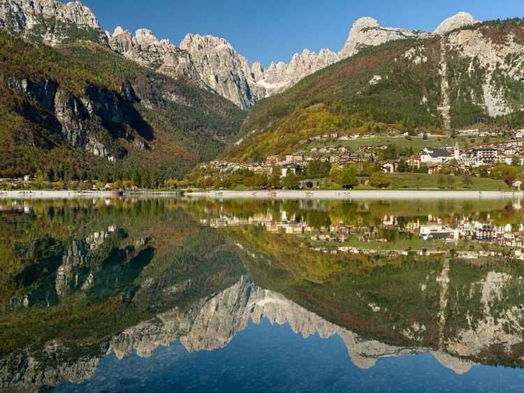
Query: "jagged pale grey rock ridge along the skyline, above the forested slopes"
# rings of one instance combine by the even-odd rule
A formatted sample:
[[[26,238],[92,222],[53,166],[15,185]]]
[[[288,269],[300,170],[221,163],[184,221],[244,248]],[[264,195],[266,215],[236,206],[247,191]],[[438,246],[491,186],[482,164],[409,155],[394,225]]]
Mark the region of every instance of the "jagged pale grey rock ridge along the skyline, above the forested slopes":
[[[13,13],[19,17],[8,17]],[[461,12],[442,22],[434,33],[426,33],[381,27],[377,20],[361,17],[354,22],[340,52],[321,49],[316,54],[304,49],[294,54],[289,63],[272,62],[265,69],[260,62],[250,65],[224,38],[187,34],[177,47],[168,40],[158,40],[149,29],[138,29],[134,37],[121,27],[113,34],[104,32],[96,16],[80,1],[64,4],[37,0],[19,4],[5,0],[3,6],[0,5],[0,27],[22,32],[24,36],[38,38],[40,35],[43,41],[52,45],[66,41],[65,32],[60,33],[63,29],[58,29],[59,34],[50,32],[53,24],[59,26],[64,22],[66,26],[69,22],[78,25],[80,38],[109,46],[124,57],[168,76],[185,76],[198,87],[210,88],[240,108],[249,109],[260,99],[283,92],[305,76],[355,55],[362,48],[396,39],[445,34],[475,20],[470,14]]]

